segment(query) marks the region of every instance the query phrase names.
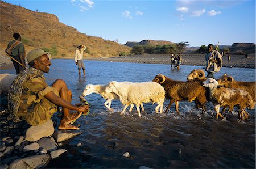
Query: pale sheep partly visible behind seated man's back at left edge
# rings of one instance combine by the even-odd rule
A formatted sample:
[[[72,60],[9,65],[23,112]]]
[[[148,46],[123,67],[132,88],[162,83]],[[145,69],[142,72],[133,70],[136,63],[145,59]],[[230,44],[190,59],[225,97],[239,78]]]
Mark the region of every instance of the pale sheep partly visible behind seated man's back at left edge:
[[[17,77],[16,74],[3,73],[0,74],[0,95],[6,96],[10,89],[11,83]]]

